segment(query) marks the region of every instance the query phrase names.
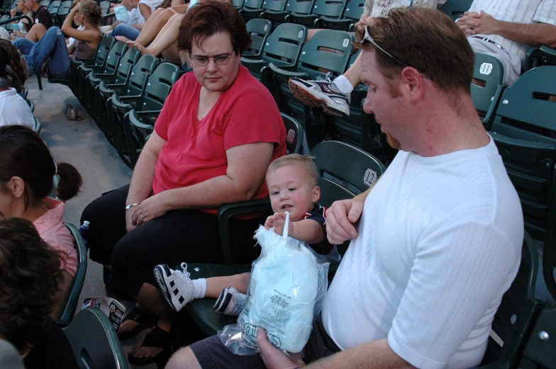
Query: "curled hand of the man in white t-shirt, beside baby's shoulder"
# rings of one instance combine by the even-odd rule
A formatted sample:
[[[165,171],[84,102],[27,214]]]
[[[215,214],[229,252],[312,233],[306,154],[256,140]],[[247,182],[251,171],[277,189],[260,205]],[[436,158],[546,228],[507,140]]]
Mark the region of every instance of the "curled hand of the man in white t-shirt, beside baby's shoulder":
[[[353,223],[359,220],[364,204],[364,201],[352,198],[335,201],[326,210],[326,234],[330,244],[343,244],[348,239],[357,237]]]

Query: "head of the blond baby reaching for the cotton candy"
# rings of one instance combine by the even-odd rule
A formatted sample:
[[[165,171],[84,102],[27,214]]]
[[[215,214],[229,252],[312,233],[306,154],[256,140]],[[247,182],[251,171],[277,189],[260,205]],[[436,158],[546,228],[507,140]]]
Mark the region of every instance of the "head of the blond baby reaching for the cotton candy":
[[[321,197],[318,172],[311,157],[289,154],[268,166],[267,186],[274,212],[289,212],[289,220],[302,220]]]

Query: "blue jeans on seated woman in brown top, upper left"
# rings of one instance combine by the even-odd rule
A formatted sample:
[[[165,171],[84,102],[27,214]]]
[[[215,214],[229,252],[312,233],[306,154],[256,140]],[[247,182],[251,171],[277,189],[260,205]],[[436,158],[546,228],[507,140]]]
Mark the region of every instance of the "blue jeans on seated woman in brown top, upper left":
[[[26,38],[16,38],[12,43],[23,54],[28,69],[35,74],[40,73],[40,67],[43,67],[50,58],[48,63],[50,76],[60,79],[72,77],[70,55],[67,53],[66,41],[60,28],[48,28],[43,38],[36,43]]]

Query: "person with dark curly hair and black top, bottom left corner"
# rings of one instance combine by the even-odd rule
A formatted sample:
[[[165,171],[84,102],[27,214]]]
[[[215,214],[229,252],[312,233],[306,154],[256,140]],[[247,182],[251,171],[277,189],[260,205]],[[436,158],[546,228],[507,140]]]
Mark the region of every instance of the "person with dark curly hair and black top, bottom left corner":
[[[28,220],[0,220],[0,337],[18,349],[27,369],[79,368],[50,317],[63,280],[60,257]]]

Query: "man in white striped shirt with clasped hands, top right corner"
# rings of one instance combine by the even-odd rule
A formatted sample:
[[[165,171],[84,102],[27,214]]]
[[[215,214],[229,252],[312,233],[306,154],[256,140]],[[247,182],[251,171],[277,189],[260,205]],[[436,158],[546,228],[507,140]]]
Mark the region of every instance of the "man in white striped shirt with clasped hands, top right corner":
[[[474,0],[457,24],[475,52],[484,52],[504,65],[504,85],[521,74],[528,47],[556,47],[554,0]]]

